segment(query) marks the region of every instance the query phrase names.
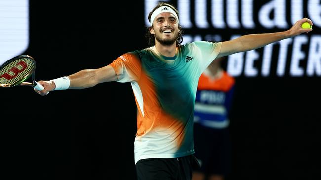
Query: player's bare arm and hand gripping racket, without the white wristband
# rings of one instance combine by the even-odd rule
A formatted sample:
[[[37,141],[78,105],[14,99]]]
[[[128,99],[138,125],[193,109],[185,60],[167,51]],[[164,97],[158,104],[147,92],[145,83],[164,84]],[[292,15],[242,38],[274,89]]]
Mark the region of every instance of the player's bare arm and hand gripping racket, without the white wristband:
[[[85,69],[68,76],[70,85],[68,89],[84,89],[93,87],[98,83],[117,80],[117,75],[111,65],[99,69]],[[39,81],[44,90],[35,90],[40,95],[47,95],[55,90],[56,84],[53,81]]]

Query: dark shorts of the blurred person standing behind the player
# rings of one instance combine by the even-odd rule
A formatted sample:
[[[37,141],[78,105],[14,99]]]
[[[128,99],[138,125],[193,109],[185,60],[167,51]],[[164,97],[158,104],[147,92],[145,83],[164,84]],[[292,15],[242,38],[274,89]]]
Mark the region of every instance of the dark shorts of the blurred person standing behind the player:
[[[213,129],[194,124],[194,150],[205,174],[227,176],[231,171],[231,141],[229,129]]]

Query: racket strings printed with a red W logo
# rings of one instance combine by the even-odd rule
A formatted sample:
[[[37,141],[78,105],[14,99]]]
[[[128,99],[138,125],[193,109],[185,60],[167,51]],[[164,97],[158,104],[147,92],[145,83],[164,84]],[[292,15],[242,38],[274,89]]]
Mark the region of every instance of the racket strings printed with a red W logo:
[[[35,67],[34,60],[20,58],[0,70],[0,86],[15,86],[28,79]]]

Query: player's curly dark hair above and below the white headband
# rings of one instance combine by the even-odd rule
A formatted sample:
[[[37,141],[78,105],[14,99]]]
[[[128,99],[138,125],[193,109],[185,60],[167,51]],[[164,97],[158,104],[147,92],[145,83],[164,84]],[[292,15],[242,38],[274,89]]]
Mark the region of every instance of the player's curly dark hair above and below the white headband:
[[[165,3],[165,2],[159,2],[157,4],[157,6],[154,7],[154,9],[148,14],[148,20],[150,22],[151,22],[151,16],[152,16],[153,12],[161,6],[167,6],[167,7],[172,8],[176,12],[176,14],[179,18],[178,10],[173,5]],[[153,26],[147,28],[145,37],[148,40],[148,45],[154,46],[155,45],[155,35],[150,33],[151,28],[153,28]],[[181,46],[181,43],[183,42],[183,32],[184,32],[183,28],[180,25],[178,25],[178,35],[177,35],[177,39],[176,39],[176,46],[177,47]]]

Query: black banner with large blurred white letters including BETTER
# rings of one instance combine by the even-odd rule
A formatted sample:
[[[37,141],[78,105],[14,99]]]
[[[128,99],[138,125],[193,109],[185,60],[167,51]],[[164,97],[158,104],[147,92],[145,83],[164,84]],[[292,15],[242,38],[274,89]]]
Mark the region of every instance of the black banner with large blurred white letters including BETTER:
[[[229,56],[235,77],[321,76],[320,0],[165,0],[177,6],[183,43],[225,41],[250,33],[285,31],[299,19],[314,23],[311,35],[285,39],[264,48]],[[145,24],[158,0],[145,0]]]

